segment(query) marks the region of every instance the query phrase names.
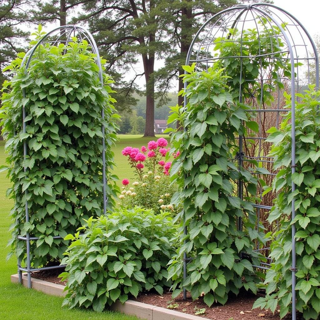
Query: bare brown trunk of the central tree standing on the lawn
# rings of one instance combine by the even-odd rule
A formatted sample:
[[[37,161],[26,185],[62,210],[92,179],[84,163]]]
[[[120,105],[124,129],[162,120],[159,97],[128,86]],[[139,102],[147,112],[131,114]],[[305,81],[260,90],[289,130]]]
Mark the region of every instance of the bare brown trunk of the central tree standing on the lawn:
[[[144,137],[154,137],[154,121],[155,121],[155,80],[154,80],[154,58],[149,59],[143,57],[143,66],[146,77],[146,128]]]

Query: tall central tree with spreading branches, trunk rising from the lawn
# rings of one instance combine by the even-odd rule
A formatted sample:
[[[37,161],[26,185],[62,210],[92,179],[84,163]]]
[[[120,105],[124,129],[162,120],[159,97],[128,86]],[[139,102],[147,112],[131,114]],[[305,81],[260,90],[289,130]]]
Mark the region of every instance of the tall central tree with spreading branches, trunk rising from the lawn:
[[[128,72],[139,61],[146,82],[145,136],[154,136],[155,61],[170,49],[166,41],[172,12],[164,0],[89,1],[80,19],[87,21],[111,64]],[[132,85],[128,89],[132,88]]]

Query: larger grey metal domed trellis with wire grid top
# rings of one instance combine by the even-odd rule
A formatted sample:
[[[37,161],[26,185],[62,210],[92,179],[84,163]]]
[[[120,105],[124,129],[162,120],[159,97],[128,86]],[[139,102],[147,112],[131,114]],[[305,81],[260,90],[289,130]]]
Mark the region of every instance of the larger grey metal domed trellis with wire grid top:
[[[260,25],[260,27],[258,26]],[[242,36],[244,32],[244,28],[256,28],[258,31],[258,44],[259,44],[259,53],[255,56],[245,54],[245,52],[242,52],[243,43],[242,43]],[[271,52],[269,53],[262,53],[262,47],[260,43],[260,34],[259,30],[269,30],[268,32],[268,38],[270,40],[271,44]],[[275,28],[278,28],[278,31],[276,32]],[[256,105],[253,104],[252,113],[256,113],[258,119],[260,119],[259,122],[259,136],[252,137],[250,136],[250,139],[257,140],[257,144],[259,146],[259,151],[261,151],[262,148],[262,142],[266,140],[266,136],[263,136],[263,132],[261,130],[262,125],[262,117],[263,119],[268,119],[271,116],[267,116],[268,114],[274,115],[276,114],[275,123],[276,126],[279,124],[279,118],[280,113],[291,111],[291,123],[292,123],[292,131],[291,131],[291,139],[292,139],[292,148],[291,148],[291,168],[292,168],[292,174],[295,172],[295,92],[300,91],[303,88],[303,85],[301,85],[301,73],[306,74],[306,78],[303,79],[304,84],[310,83],[310,62],[314,63],[315,68],[315,84],[316,88],[319,88],[319,60],[318,55],[316,51],[316,46],[308,34],[308,31],[301,25],[299,20],[297,20],[294,16],[292,16],[289,12],[273,5],[273,4],[240,4],[233,6],[231,8],[225,9],[215,15],[212,16],[209,20],[207,20],[203,26],[198,30],[196,33],[196,36],[194,37],[193,41],[191,42],[187,59],[186,59],[186,65],[189,65],[190,63],[196,63],[197,69],[204,69],[207,70],[210,65],[212,65],[215,61],[218,61],[222,59],[220,55],[213,55],[213,48],[215,46],[214,40],[216,40],[219,37],[219,41],[223,42],[223,37],[227,38],[227,41],[234,41],[237,40],[233,39],[233,36],[231,33],[229,33],[229,29],[237,29],[241,30],[241,38],[240,41],[238,40],[240,44],[240,52],[237,55],[234,56],[227,56],[229,59],[239,59],[241,63],[241,69],[243,66],[243,60],[244,59],[250,59],[255,58],[257,60],[260,60],[260,70],[258,73],[258,78],[255,80],[258,80],[261,84],[261,94],[260,94],[260,103],[257,101],[258,94],[255,95],[255,97],[252,96],[252,98],[255,98]],[[221,38],[220,38],[221,37]],[[273,47],[272,39],[276,41],[277,44],[279,44],[279,41],[284,43],[284,48],[279,49],[278,46]],[[310,52],[312,52],[310,54]],[[279,56],[280,55],[280,56]],[[263,69],[262,67],[262,58],[273,59],[273,60],[283,60],[285,64],[287,64],[288,68],[291,70],[291,76],[284,75],[283,73],[280,73],[280,70],[277,70],[277,80],[281,80],[283,83],[287,83],[287,89],[291,91],[291,110],[289,109],[283,109],[281,108],[281,99],[280,99],[280,93],[281,90],[279,88],[279,85],[276,86],[276,92],[277,92],[277,101],[276,104],[273,105],[271,108],[264,108],[264,105],[262,103],[263,101],[263,85],[268,83],[268,81],[271,80],[271,78],[268,76],[268,73]],[[223,57],[226,58],[226,57]],[[303,65],[301,66],[301,62],[303,62]],[[185,72],[187,73],[187,72]],[[240,90],[239,90],[239,102],[245,102],[242,101],[243,99],[243,92],[241,91],[241,81],[242,81],[242,73],[240,72]],[[246,79],[243,79],[243,81],[246,81]],[[184,83],[184,90],[187,90],[188,83]],[[184,107],[187,105],[187,95],[184,96]],[[256,108],[254,108],[256,107]],[[187,130],[187,129],[185,129]],[[265,133],[265,132],[264,132]],[[245,150],[245,139],[246,137],[240,136],[238,138],[239,140],[239,152],[237,157],[238,166],[242,166],[245,161],[250,159],[257,160],[262,167],[269,165],[271,166],[273,164],[273,159],[271,157],[267,157],[267,153],[263,156],[260,156],[261,153],[257,154],[247,154],[248,150]],[[262,174],[262,173],[259,173]],[[269,177],[272,177],[275,175],[275,173],[269,173]],[[295,184],[292,182],[292,191],[295,190]],[[243,182],[241,180],[238,181],[238,187],[237,187],[238,196],[240,198],[244,195],[243,190]],[[260,194],[260,197],[262,199],[262,194]],[[262,203],[262,204],[252,204],[253,207],[257,210],[257,228],[260,224],[260,214],[263,210],[270,210],[272,207],[271,202],[269,203]],[[293,220],[295,217],[295,209],[294,209],[294,199],[292,199],[292,217]],[[239,218],[238,220],[238,229],[242,229],[242,220]],[[187,226],[184,226],[184,234],[187,235],[188,229]],[[186,242],[187,240],[185,240]],[[269,248],[257,248],[257,251],[268,251]],[[184,252],[183,255],[183,276],[184,278],[187,277],[187,263],[190,261],[190,258],[187,257],[186,252]],[[256,268],[261,269],[268,269],[270,266],[270,263],[261,263],[260,266],[254,266]],[[296,295],[295,295],[295,284],[296,284],[296,277],[295,272],[296,269],[296,253],[295,253],[295,225],[292,224],[292,319],[296,319]],[[183,290],[183,297],[186,299],[186,290]]]

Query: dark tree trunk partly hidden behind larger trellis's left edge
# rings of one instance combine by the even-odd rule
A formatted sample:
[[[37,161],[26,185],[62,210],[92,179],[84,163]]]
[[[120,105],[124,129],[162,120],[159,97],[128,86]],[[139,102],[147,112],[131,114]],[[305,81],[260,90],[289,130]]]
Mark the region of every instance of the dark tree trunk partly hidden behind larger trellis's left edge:
[[[191,0],[187,0],[187,2],[191,2]],[[180,44],[180,57],[185,64],[188,50],[192,41],[192,7],[183,7],[181,8],[181,44]],[[184,70],[179,68],[179,76],[184,74]],[[179,85],[178,92],[183,88],[183,79],[179,77]],[[179,106],[183,105],[183,99],[181,95],[178,96],[178,104]],[[177,122],[177,129],[182,130],[183,128],[180,125],[180,122]]]

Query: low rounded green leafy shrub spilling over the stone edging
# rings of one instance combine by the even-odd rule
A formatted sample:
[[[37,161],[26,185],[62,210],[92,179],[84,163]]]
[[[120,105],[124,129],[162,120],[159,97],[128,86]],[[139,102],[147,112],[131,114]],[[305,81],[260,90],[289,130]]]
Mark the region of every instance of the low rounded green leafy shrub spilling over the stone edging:
[[[65,238],[72,242],[61,262],[68,264],[60,275],[68,279],[64,305],[102,311],[129,295],[151,289],[162,294],[170,287],[166,265],[175,251],[176,226],[169,213],[119,209],[91,217],[80,231],[84,235]]]

